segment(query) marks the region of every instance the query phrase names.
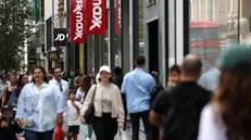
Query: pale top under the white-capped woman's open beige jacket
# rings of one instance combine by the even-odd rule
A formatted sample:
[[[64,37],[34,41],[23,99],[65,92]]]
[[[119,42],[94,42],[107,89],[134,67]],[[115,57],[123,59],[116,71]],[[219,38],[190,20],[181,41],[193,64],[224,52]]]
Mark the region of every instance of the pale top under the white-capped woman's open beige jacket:
[[[102,112],[112,112],[112,92],[109,88],[104,87],[102,92]]]

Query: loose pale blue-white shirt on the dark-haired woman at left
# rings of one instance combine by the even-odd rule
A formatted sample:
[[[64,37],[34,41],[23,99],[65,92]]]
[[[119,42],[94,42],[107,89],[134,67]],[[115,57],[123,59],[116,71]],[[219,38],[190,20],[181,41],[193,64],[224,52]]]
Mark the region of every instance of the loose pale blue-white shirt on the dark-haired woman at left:
[[[35,126],[25,129],[45,132],[55,128],[57,115],[64,112],[64,105],[63,96],[55,87],[43,82],[37,90],[35,84],[27,84],[21,91],[15,118],[34,120]]]

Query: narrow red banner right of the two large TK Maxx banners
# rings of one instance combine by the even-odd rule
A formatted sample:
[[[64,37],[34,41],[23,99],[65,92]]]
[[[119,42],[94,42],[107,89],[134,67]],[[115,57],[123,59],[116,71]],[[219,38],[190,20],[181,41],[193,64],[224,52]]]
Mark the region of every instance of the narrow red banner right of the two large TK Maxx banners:
[[[115,35],[121,35],[122,18],[121,18],[121,0],[115,0]]]

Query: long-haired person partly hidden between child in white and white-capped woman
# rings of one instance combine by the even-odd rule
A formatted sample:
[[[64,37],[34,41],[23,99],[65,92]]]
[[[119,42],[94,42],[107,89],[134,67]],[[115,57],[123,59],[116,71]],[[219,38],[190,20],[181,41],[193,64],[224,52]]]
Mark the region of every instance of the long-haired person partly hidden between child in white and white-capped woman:
[[[91,78],[85,76],[81,81],[81,86],[78,88],[76,93],[76,100],[84,105],[86,96],[90,89]],[[89,140],[92,136],[92,127],[90,125],[80,124],[80,133],[84,135],[85,140]]]

